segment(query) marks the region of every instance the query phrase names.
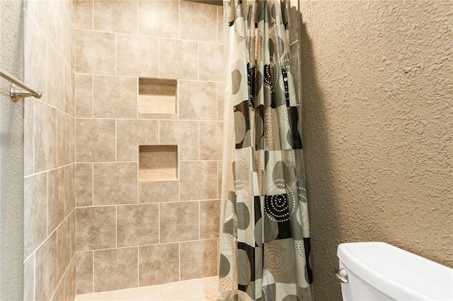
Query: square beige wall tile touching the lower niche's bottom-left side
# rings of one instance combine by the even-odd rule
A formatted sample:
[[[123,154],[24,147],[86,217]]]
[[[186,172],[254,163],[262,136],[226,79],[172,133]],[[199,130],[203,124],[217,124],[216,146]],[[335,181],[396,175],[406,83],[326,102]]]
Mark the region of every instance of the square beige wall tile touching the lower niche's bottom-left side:
[[[93,203],[137,203],[137,163],[94,163]]]

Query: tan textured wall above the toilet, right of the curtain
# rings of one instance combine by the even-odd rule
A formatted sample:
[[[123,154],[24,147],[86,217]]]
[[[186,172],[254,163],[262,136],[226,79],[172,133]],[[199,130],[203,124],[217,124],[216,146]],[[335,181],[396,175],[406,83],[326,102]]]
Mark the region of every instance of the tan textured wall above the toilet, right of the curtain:
[[[341,242],[453,267],[452,1],[300,1],[315,297]]]

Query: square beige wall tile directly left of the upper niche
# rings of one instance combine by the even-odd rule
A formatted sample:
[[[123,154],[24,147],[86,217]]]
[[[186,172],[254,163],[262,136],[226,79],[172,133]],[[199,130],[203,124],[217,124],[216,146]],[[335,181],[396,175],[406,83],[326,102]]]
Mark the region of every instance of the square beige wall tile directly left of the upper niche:
[[[136,118],[137,78],[93,76],[93,117]]]

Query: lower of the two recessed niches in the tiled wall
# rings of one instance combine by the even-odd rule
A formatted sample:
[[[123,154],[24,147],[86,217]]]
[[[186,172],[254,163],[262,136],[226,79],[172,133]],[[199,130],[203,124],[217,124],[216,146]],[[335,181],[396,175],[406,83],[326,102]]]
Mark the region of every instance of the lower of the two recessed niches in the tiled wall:
[[[139,146],[139,180],[177,181],[178,146]]]

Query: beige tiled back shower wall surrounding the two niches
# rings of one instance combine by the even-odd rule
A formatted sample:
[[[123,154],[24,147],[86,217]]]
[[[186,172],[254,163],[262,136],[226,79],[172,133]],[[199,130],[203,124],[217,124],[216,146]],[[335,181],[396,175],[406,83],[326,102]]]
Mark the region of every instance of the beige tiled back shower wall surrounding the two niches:
[[[217,275],[222,6],[76,1],[78,294]],[[138,78],[178,81],[138,113]],[[138,146],[177,145],[178,181],[140,182]]]

